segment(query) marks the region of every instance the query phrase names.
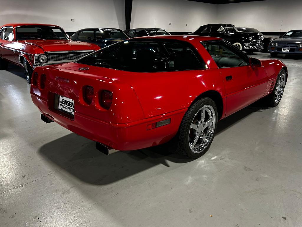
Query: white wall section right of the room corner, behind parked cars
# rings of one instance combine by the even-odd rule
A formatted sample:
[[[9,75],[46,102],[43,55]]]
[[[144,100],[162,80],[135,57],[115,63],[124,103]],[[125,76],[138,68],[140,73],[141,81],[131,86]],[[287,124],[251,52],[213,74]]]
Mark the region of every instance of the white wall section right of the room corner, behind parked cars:
[[[302,29],[301,0],[268,0],[218,5],[217,23],[251,27],[262,32]]]

